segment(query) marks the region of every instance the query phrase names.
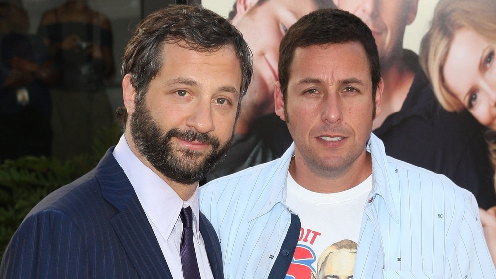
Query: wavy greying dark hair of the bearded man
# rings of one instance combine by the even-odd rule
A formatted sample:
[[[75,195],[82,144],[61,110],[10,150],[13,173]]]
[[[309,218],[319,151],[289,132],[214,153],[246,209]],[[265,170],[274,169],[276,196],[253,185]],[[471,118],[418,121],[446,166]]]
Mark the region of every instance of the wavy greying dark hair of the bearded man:
[[[241,33],[225,18],[198,5],[171,5],[143,19],[124,50],[121,74],[131,75],[131,85],[136,90],[136,103],[143,100],[150,81],[162,67],[162,50],[165,43],[183,43],[182,47],[213,52],[231,46],[241,65],[240,102],[245,95],[253,74],[253,55]],[[167,55],[167,54],[165,54]],[[125,125],[127,112],[116,111],[117,118]]]

